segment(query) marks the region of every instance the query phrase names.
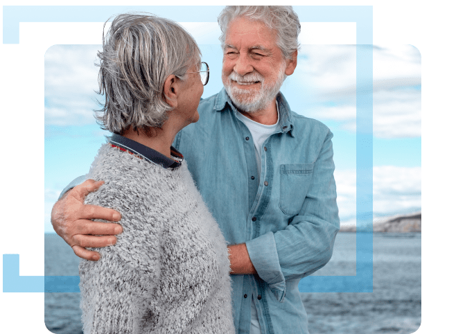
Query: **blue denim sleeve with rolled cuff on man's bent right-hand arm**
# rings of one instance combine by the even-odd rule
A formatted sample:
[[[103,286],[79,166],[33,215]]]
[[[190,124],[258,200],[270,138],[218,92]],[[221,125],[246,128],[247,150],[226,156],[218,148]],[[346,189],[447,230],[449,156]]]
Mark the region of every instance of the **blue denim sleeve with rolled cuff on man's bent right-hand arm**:
[[[301,210],[285,229],[246,242],[258,276],[283,301],[287,279],[301,279],[328,263],[340,228],[334,180],[333,134],[315,161]]]

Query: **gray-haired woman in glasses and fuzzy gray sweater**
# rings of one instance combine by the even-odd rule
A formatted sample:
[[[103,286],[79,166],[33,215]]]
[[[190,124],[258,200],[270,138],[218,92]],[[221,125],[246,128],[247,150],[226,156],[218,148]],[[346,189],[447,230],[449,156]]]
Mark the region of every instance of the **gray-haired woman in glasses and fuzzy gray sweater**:
[[[234,333],[225,240],[171,143],[198,121],[207,64],[174,21],[118,15],[103,41],[96,117],[112,132],[86,202],[122,214],[116,245],[80,263],[84,333]]]

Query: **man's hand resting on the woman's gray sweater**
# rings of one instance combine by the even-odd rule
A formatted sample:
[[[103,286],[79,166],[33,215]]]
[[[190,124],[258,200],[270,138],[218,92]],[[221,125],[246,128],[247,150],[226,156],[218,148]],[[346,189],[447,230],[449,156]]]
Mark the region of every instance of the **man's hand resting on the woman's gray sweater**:
[[[97,261],[100,254],[84,247],[114,245],[117,241],[114,234],[122,232],[122,227],[118,224],[90,220],[118,221],[121,219],[117,211],[84,204],[85,196],[96,191],[103,184],[103,181],[95,182],[93,179],[88,179],[62,196],[51,211],[51,224],[56,233],[72,247],[77,256],[85,260]],[[96,236],[98,234],[103,236]]]

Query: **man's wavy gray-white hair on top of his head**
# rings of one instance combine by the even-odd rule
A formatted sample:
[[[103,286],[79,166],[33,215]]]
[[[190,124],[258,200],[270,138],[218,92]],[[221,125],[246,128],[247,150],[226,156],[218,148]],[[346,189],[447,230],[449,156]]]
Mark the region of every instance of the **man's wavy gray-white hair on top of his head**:
[[[265,26],[276,30],[277,45],[286,59],[292,59],[292,53],[299,49],[298,35],[301,32],[301,24],[292,6],[226,6],[218,16],[218,24],[222,30],[219,37],[222,49],[225,46],[227,28],[237,17],[263,21]]]

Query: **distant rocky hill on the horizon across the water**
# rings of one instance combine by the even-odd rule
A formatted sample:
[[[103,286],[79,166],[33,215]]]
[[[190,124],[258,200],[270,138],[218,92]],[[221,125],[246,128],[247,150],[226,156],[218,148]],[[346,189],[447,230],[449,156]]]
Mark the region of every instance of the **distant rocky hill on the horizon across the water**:
[[[355,226],[341,227],[341,232],[355,232]],[[405,216],[394,216],[378,220],[373,225],[374,232],[413,233],[421,232],[421,212]]]

